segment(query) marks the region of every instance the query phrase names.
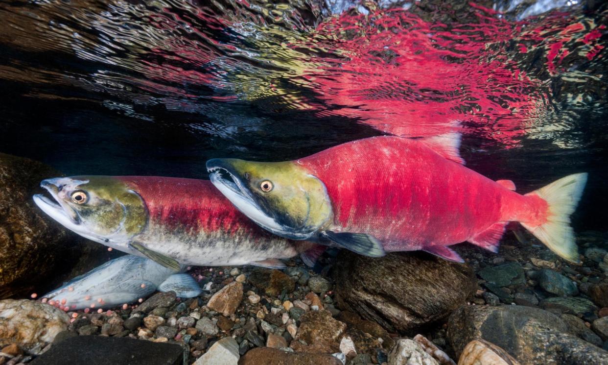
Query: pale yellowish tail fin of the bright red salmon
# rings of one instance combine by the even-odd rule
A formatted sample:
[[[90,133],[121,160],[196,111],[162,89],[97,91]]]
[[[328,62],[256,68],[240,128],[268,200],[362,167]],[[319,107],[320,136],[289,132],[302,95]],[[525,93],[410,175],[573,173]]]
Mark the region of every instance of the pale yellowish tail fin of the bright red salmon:
[[[551,251],[575,263],[580,260],[574,231],[570,227],[570,215],[581,199],[586,182],[587,173],[575,173],[526,194],[537,195],[547,201],[547,221],[538,226],[521,222],[522,226],[547,245]]]

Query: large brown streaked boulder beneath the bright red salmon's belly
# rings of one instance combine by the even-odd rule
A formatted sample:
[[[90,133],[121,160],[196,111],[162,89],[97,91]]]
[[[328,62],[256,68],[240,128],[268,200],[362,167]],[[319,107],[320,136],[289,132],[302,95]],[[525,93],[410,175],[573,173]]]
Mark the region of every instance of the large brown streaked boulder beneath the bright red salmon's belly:
[[[371,259],[342,250],[336,263],[340,308],[358,313],[389,332],[412,332],[446,318],[477,287],[468,265],[423,252]]]

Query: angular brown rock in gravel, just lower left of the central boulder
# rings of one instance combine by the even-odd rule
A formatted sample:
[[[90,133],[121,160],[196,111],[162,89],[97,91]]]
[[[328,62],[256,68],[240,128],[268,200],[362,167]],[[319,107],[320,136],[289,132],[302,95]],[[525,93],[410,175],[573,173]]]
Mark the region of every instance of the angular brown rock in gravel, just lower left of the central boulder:
[[[346,324],[333,319],[329,311],[309,311],[300,317],[295,340],[305,341],[308,345],[321,344],[339,352],[339,342],[346,327]]]

